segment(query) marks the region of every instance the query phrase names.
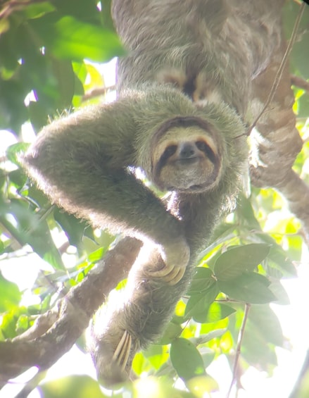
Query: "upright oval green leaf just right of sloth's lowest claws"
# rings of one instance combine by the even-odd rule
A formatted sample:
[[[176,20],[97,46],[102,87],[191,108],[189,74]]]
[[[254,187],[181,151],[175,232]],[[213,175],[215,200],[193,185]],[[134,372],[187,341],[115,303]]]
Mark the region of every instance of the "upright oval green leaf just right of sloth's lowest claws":
[[[170,346],[170,360],[182,380],[204,375],[203,359],[198,349],[187,339],[176,339]]]

